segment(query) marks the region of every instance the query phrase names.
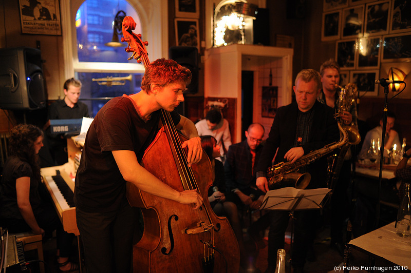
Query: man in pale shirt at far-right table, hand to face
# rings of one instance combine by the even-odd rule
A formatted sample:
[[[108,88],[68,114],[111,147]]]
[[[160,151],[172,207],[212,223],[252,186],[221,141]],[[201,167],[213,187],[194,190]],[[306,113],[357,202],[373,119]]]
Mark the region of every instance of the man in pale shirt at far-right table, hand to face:
[[[400,138],[398,136],[397,131],[393,129],[395,123],[395,114],[393,112],[388,111],[387,112],[387,127],[385,129],[385,144],[384,144],[384,150],[391,150],[394,147],[394,144],[397,144],[397,149],[401,147],[401,142]],[[382,140],[382,124],[383,120],[381,118],[380,120],[380,125],[369,130],[367,134],[365,135],[365,139],[363,142],[363,146],[361,148],[361,151],[358,155],[359,158],[366,158],[367,157],[367,151],[369,147],[371,146],[371,141],[375,140],[376,145],[377,145],[377,140],[380,139]],[[386,152],[385,152],[386,154]]]

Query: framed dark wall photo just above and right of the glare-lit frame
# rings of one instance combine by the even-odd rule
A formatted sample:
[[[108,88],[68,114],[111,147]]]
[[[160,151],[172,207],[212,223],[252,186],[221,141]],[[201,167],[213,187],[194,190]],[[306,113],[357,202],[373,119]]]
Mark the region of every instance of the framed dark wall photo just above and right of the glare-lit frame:
[[[380,35],[388,33],[389,1],[372,2],[365,6],[364,34]]]

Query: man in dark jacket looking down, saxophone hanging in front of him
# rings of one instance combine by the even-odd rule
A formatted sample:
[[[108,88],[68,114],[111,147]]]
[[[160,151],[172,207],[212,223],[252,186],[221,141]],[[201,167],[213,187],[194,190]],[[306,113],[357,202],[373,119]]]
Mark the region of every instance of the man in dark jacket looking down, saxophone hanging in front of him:
[[[333,110],[316,100],[320,93],[321,77],[313,69],[305,69],[297,74],[295,100],[289,105],[277,109],[271,131],[256,167],[256,185],[264,192],[268,191],[266,172],[271,166],[277,151],[274,164],[295,162],[310,151],[323,148],[325,145],[340,139],[339,128],[333,117]],[[311,182],[307,189],[326,186],[327,161],[321,158],[299,172],[309,172]],[[294,272],[303,272],[307,250],[315,238],[318,210],[295,211],[294,247],[292,266]],[[274,272],[277,249],[284,248],[285,231],[289,222],[289,212],[271,210],[269,212],[270,231],[268,236],[267,272]]]

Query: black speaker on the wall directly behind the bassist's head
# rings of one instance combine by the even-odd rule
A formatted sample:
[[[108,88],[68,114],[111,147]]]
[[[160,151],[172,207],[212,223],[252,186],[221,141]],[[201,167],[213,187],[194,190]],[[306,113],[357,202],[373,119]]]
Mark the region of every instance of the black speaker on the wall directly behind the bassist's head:
[[[198,49],[196,47],[175,46],[170,48],[170,59],[179,65],[190,69],[192,74],[191,83],[187,91],[191,94],[198,92]]]

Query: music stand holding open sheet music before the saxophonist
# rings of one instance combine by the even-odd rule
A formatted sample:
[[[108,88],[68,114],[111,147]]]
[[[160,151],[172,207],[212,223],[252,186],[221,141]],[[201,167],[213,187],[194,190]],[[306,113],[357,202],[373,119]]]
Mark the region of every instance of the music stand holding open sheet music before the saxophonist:
[[[290,267],[294,237],[294,211],[295,210],[310,210],[323,208],[322,202],[327,194],[331,191],[329,188],[320,189],[296,189],[294,187],[286,187],[281,189],[267,191],[263,203],[259,209],[275,209],[289,211],[291,217],[291,240],[290,240]]]

